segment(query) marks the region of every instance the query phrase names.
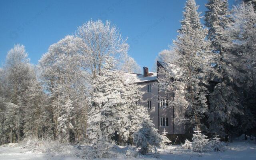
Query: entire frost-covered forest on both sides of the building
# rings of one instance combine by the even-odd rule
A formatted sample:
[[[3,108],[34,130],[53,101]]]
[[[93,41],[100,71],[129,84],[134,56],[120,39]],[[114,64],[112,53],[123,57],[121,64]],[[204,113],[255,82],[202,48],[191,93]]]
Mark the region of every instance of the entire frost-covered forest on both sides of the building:
[[[176,123],[195,126],[182,148],[200,153],[226,150],[230,134],[256,136],[256,1],[229,9],[228,0],[208,0],[205,6],[201,17],[195,0],[186,1],[176,39],[156,58],[175,64],[159,70],[158,84],[180,95],[168,100],[186,108]],[[159,158],[158,149],[173,142],[138,103],[143,93],[135,79],[116,72],[140,73],[128,50],[117,26],[102,20],[89,20],[50,45],[36,65],[25,46],[15,44],[0,68],[0,144],[85,145],[76,155],[88,159],[111,158],[113,144],[134,145],[126,155]],[[210,82],[216,82],[212,92]]]

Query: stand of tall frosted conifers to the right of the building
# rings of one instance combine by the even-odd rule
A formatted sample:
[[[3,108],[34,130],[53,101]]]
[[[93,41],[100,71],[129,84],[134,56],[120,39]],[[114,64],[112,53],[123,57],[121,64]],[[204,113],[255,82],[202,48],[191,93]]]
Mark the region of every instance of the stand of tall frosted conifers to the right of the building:
[[[203,27],[196,2],[186,1],[176,40],[158,55],[175,64],[159,71],[159,83],[174,92],[172,107],[185,107],[176,123],[222,136],[255,134],[255,5],[246,0],[229,10],[228,0],[208,0]]]

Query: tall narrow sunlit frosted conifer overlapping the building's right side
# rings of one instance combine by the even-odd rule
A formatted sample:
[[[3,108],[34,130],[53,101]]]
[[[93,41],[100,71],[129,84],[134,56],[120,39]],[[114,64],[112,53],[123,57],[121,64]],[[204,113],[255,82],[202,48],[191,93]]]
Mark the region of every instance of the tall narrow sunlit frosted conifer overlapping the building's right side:
[[[197,12],[198,6],[194,0],[187,0],[184,19],[181,21],[182,27],[178,31],[180,34],[174,40],[174,52],[178,54],[176,68],[182,68],[179,78],[186,87],[176,86],[184,91],[186,99],[187,114],[194,116],[196,124],[200,124],[208,112],[206,104],[206,80],[210,70],[210,43],[205,40],[207,29],[202,28],[200,13]],[[174,83],[172,83],[174,84]]]

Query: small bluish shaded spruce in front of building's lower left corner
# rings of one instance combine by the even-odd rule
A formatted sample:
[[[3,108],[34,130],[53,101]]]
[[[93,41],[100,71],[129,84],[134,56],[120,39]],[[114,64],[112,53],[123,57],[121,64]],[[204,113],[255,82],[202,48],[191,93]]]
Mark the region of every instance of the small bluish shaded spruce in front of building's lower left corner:
[[[153,146],[160,146],[162,136],[154,128],[154,124],[149,116],[145,117],[140,125],[141,128],[132,134],[133,142],[136,147],[140,147],[142,154],[147,154]]]

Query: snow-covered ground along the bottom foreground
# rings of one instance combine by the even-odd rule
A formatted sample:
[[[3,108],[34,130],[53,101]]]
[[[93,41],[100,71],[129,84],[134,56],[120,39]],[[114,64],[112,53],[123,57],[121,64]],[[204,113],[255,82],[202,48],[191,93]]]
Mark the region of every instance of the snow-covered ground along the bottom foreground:
[[[112,149],[113,158],[108,160],[124,160],[128,147],[117,146]],[[240,140],[228,143],[225,152],[195,153],[182,150],[180,145],[168,146],[160,151],[160,160],[256,160],[256,142]],[[129,159],[129,158],[128,158]],[[151,155],[140,156],[140,160],[156,160]],[[51,156],[22,149],[16,144],[0,146],[0,160],[80,160],[76,157]]]

